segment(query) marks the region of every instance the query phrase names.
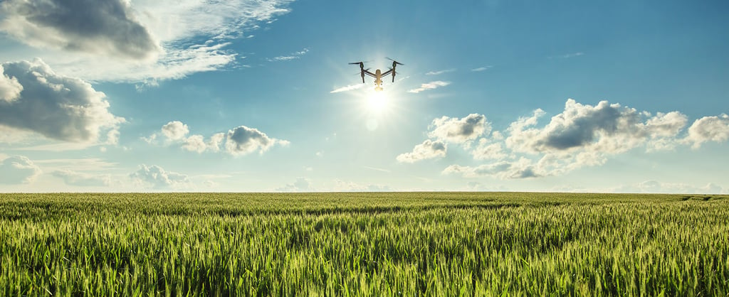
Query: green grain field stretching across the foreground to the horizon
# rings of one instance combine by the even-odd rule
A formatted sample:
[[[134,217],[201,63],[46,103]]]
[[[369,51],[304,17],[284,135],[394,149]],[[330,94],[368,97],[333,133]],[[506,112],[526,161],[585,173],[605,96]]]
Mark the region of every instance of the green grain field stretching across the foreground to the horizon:
[[[0,296],[728,296],[729,197],[0,194]]]

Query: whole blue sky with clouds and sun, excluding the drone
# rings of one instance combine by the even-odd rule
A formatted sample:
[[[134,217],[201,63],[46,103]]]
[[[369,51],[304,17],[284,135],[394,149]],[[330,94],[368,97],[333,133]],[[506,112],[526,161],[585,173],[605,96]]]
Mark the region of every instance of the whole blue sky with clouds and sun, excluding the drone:
[[[3,0],[0,192],[728,194],[728,13]]]

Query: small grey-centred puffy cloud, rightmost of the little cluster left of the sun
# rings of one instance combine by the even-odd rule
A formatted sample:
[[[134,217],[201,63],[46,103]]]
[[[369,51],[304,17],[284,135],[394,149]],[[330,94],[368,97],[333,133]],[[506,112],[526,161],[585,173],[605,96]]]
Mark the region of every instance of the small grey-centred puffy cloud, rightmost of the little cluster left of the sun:
[[[263,154],[274,144],[287,146],[289,142],[269,138],[266,133],[246,126],[235,127],[233,130],[228,130],[225,135],[225,150],[233,156],[250,154],[254,151]]]

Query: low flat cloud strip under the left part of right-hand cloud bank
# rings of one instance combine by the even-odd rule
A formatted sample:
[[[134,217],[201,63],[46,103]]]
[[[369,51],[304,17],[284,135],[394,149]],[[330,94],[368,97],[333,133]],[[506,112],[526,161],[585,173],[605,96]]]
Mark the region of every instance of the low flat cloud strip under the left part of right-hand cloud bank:
[[[451,165],[445,167],[442,174],[460,174],[464,178],[492,176],[501,179],[538,178],[542,176],[536,172],[531,160],[523,157],[515,161],[501,161],[477,167]]]

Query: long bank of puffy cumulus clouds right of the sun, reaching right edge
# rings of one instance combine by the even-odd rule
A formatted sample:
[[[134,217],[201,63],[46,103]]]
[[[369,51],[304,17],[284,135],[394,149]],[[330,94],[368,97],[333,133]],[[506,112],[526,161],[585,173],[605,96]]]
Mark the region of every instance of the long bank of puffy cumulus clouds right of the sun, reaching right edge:
[[[462,119],[443,116],[429,126],[429,138],[459,143],[475,161],[486,164],[451,165],[443,174],[468,178],[536,178],[563,175],[580,167],[604,165],[609,157],[634,148],[670,150],[679,145],[698,148],[707,141],[729,140],[729,116],[705,116],[682,135],[687,116],[679,111],[650,114],[618,103],[601,101],[596,106],[566,100],[564,111],[540,126],[545,111],[536,109],[520,117],[504,131],[491,132],[486,116],[469,114]],[[482,137],[483,136],[483,137]],[[481,137],[481,138],[480,138]],[[479,139],[480,138],[480,139]],[[475,143],[475,140],[477,142]],[[426,149],[401,154],[399,162],[445,156],[445,150]],[[474,145],[475,144],[475,145]]]

